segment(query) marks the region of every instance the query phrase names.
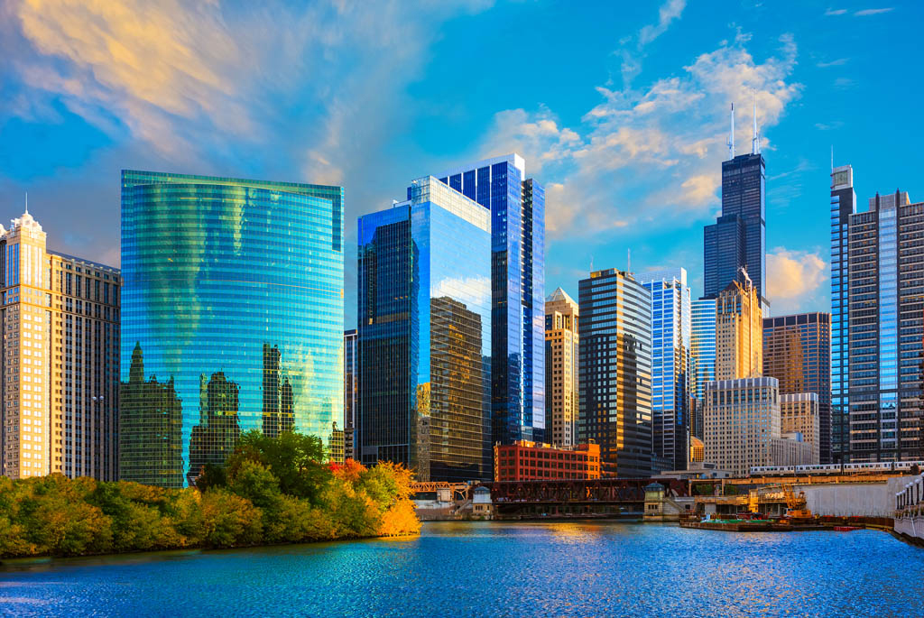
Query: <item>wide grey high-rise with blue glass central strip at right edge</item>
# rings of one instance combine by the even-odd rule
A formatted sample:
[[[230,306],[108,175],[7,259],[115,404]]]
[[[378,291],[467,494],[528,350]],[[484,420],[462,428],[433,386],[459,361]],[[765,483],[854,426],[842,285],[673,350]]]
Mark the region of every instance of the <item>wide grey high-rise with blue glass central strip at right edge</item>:
[[[895,191],[850,215],[851,462],[924,459],[924,203]],[[843,283],[842,283],[843,285]]]

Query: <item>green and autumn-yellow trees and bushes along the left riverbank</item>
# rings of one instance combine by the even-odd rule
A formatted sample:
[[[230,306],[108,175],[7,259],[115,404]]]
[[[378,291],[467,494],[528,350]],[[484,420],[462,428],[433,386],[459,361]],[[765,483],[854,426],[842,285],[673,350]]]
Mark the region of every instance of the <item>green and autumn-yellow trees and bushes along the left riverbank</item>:
[[[315,436],[241,435],[196,487],[0,478],[0,559],[225,549],[417,534],[400,465],[324,464]]]

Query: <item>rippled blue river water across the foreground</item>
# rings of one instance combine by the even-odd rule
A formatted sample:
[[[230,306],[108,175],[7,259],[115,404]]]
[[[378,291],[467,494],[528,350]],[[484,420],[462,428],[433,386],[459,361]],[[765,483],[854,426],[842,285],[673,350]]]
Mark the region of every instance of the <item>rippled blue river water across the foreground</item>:
[[[876,531],[432,523],[419,538],[9,563],[4,615],[924,615]]]

